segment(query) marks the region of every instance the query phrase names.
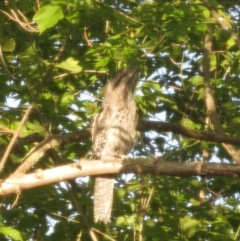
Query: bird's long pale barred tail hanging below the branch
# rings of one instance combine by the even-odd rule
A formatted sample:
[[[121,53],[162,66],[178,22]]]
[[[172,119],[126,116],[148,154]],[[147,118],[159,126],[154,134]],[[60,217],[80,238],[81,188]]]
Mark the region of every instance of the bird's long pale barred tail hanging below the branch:
[[[94,222],[110,221],[113,203],[113,176],[97,177],[94,186]]]

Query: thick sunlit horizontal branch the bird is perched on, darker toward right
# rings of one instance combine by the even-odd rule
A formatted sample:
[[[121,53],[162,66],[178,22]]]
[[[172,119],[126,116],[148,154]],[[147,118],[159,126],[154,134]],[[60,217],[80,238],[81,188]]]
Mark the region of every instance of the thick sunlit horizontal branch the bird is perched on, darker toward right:
[[[171,162],[162,158],[128,158],[114,162],[99,160],[81,160],[78,163],[59,166],[47,170],[38,170],[31,174],[15,173],[1,183],[0,195],[20,193],[22,190],[54,184],[61,181],[102,174],[149,173],[189,177],[193,175],[239,176],[240,165]]]

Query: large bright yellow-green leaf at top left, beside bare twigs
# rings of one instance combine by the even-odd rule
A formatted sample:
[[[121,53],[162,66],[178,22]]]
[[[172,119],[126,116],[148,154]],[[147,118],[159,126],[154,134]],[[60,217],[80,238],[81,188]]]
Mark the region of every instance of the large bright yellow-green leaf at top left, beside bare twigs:
[[[45,5],[33,17],[38,24],[40,33],[56,25],[64,15],[60,6]]]

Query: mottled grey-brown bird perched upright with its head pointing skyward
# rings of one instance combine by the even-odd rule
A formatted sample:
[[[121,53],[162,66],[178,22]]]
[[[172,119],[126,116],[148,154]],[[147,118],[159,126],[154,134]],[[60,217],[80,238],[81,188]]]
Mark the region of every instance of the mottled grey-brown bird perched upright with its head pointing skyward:
[[[138,68],[129,67],[116,72],[105,89],[102,109],[92,126],[93,158],[127,155],[136,142],[136,104],[134,91]],[[113,202],[114,176],[97,177],[94,187],[94,221],[109,222]]]

